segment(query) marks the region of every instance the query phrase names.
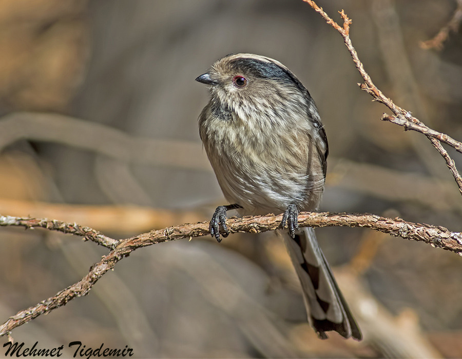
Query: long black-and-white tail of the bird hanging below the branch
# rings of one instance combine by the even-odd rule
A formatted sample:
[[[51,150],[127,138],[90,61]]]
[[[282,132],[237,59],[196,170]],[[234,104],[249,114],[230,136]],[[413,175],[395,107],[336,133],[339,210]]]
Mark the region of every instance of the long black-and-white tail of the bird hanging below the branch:
[[[335,330],[345,338],[361,340],[361,332],[319,248],[314,229],[300,229],[295,238],[281,234],[300,278],[308,322],[318,336],[326,339],[325,332]]]

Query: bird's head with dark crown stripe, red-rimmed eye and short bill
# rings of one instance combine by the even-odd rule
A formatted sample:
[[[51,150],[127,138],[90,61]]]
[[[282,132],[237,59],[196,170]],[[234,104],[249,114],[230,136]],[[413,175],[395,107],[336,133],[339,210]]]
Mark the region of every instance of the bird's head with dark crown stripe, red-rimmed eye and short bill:
[[[234,111],[240,118],[255,116],[256,112],[281,117],[304,111],[312,102],[290,70],[272,58],[255,54],[227,55],[196,81],[208,85],[211,106]]]

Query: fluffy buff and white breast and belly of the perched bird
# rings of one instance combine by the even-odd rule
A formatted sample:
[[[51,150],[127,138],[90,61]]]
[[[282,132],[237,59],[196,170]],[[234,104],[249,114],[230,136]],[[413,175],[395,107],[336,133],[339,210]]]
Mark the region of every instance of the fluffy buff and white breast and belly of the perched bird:
[[[201,126],[223,194],[230,204],[242,206],[244,215],[279,214],[291,204],[303,211],[318,207],[324,175],[308,133],[238,121],[214,125],[205,121]]]

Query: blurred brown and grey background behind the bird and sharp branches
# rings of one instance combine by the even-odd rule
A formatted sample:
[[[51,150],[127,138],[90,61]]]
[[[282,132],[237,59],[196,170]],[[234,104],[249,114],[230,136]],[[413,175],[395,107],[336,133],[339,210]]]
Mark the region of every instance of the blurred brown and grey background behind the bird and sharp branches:
[[[386,95],[462,139],[462,36],[451,33],[440,51],[420,46],[456,1],[319,5],[353,19],[353,45]],[[341,36],[301,0],[3,0],[0,29],[1,214],[114,238],[208,220],[225,201],[200,143],[208,100],[194,79],[228,53],[252,52],[290,68],[317,102],[331,152],[322,211],[462,231],[443,159],[425,136],[379,120],[387,109],[358,88]],[[360,343],[317,339],[274,233],[143,248],[89,295],[12,337],[64,344],[65,356],[72,341],[128,345],[133,357],[462,356],[462,258],[367,229],[317,235]],[[1,228],[0,322],[79,281],[107,252],[79,237]]]

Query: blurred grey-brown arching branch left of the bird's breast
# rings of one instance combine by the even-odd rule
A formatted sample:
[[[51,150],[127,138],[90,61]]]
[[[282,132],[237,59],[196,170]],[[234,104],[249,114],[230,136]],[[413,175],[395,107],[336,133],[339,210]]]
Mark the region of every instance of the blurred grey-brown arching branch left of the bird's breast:
[[[23,138],[61,143],[120,161],[211,171],[199,142],[130,136],[57,113],[13,112],[0,118],[0,151]]]

